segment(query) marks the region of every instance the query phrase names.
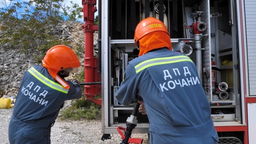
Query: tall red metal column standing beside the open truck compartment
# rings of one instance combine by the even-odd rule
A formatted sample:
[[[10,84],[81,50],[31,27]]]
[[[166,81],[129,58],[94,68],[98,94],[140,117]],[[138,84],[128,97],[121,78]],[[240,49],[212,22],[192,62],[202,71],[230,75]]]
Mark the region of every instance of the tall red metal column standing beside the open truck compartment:
[[[97,61],[93,52],[93,33],[98,31],[98,26],[94,25],[94,13],[97,11],[96,0],[82,0],[83,8],[83,32],[85,33],[85,83],[100,82],[101,76],[97,73]],[[85,85],[85,100],[101,105],[101,98],[94,96],[101,93],[101,84]]]

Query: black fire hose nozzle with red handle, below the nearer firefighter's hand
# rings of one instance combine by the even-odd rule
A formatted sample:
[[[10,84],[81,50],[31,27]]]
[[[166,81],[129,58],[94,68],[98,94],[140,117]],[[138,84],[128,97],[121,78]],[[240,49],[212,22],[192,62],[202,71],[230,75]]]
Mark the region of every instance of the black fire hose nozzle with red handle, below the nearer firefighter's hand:
[[[129,144],[129,143],[142,144],[143,142],[142,138],[131,138],[132,131],[137,126],[137,122],[138,122],[137,113],[138,113],[139,107],[140,107],[140,103],[136,102],[133,108],[132,115],[130,115],[130,117],[128,117],[126,120],[126,126],[127,126],[126,129],[121,126],[117,127],[117,131],[119,132],[119,134],[123,139],[120,144]],[[124,134],[121,130],[124,131]]]

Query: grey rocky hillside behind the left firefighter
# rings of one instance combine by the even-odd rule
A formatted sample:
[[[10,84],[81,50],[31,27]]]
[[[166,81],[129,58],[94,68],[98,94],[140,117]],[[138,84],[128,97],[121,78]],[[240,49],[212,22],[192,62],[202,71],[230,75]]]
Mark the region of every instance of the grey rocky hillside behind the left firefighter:
[[[85,47],[85,34],[81,28],[80,22],[61,22],[56,28],[53,28],[52,34],[57,35],[61,42],[71,42],[72,48],[78,54],[81,67],[79,73],[83,70],[85,51],[78,50],[78,47]],[[1,27],[1,24],[0,24]],[[0,32],[0,35],[3,34]],[[94,55],[97,55],[97,32],[94,33]],[[20,49],[8,49],[0,47],[0,97],[17,96],[21,85],[22,77],[25,71],[41,63],[36,63],[35,58],[40,56],[38,49],[34,49],[30,54],[24,54]],[[74,76],[74,75],[73,75]],[[70,76],[68,79],[72,79]]]

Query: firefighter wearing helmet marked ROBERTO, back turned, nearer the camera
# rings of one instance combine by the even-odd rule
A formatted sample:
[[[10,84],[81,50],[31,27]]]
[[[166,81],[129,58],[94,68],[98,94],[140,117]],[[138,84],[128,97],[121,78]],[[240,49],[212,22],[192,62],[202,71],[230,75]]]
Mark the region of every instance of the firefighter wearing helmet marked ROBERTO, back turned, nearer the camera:
[[[123,105],[143,98],[139,110],[149,118],[150,144],[217,144],[210,104],[195,64],[171,51],[164,24],[155,18],[142,20],[134,40],[139,57],[129,62],[115,96]]]

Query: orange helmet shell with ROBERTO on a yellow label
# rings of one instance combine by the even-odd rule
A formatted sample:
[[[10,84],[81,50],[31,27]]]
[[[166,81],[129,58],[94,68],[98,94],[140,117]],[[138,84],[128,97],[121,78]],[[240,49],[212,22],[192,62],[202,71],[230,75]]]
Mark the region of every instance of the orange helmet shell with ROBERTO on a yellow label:
[[[135,47],[136,48],[139,47],[138,41],[141,37],[154,31],[164,31],[169,35],[166,26],[159,19],[148,17],[147,19],[140,21],[136,26],[136,29],[134,32]]]

